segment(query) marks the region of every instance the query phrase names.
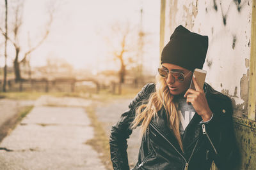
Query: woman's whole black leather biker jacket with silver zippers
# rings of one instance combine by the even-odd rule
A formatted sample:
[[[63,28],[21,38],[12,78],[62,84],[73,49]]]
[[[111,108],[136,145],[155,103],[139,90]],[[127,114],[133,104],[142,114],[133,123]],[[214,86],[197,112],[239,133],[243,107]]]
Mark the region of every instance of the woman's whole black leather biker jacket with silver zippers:
[[[113,169],[129,169],[127,159],[127,138],[132,133],[131,122],[135,108],[147,101],[155,90],[155,84],[145,85],[129,104],[116,125],[111,129],[109,139]],[[234,169],[239,154],[232,124],[232,103],[230,98],[212,89],[205,83],[204,92],[213,117],[207,124],[200,124],[202,118],[195,114],[184,131],[182,143],[184,153],[167,125],[165,110],[159,110],[159,118],[153,118],[143,135],[138,162],[133,169],[210,169],[212,160],[219,169]]]

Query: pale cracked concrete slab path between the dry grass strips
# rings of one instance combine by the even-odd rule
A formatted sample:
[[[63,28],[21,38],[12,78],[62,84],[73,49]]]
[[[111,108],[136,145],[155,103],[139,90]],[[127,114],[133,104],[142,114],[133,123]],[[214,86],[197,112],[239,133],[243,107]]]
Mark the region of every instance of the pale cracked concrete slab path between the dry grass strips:
[[[56,106],[44,106],[51,100]],[[31,113],[0,144],[7,150],[0,150],[0,169],[105,169],[98,153],[85,144],[93,138],[85,104],[90,102],[49,96],[38,99]]]

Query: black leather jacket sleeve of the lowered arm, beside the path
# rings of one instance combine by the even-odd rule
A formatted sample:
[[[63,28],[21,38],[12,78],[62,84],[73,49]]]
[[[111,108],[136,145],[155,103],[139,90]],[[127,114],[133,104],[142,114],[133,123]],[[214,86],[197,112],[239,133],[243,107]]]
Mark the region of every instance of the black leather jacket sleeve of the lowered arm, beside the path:
[[[125,111],[118,122],[111,128],[109,145],[113,169],[129,169],[127,139],[132,133],[131,123],[135,117],[135,108],[148,96],[148,91],[152,89],[153,85],[154,84],[150,83],[143,87],[129,104],[129,110]]]

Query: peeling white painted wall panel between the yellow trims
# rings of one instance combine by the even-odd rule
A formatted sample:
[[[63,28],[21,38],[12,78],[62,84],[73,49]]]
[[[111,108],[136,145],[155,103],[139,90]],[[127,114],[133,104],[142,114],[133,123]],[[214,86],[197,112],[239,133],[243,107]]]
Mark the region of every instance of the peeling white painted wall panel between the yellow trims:
[[[232,99],[234,115],[247,118],[252,0],[166,0],[164,44],[175,27],[209,36],[203,69],[214,89]]]

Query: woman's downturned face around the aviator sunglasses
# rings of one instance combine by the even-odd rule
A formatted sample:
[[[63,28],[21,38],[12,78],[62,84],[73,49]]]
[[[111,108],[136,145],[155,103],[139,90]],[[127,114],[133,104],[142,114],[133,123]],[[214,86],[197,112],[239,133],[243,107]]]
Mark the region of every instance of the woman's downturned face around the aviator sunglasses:
[[[180,95],[185,94],[186,90],[189,89],[189,85],[191,82],[191,78],[193,75],[193,72],[188,69],[185,69],[184,67],[177,66],[175,64],[170,63],[163,63],[162,64],[163,69],[168,69],[168,71],[175,71],[179,73],[183,73],[185,77],[185,80],[183,82],[179,82],[173,78],[172,74],[168,74],[168,77],[165,78],[165,81],[169,87],[170,93],[173,95]]]

